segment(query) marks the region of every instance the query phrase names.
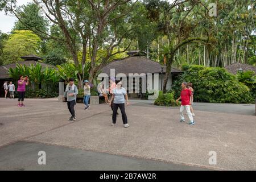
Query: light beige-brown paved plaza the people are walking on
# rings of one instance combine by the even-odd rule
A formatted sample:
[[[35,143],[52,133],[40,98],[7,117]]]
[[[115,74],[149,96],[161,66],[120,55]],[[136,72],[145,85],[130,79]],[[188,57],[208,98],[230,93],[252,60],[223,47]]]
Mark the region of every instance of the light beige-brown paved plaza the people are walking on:
[[[27,99],[26,107],[17,107],[15,100],[0,98],[0,166],[8,158],[19,158],[15,145],[22,141],[156,160],[170,165],[256,169],[254,115],[197,110],[196,125],[189,126],[179,122],[177,108],[136,103],[131,101],[126,107],[131,126],[123,128],[121,117],[116,127],[110,126],[111,111],[105,104],[92,105],[86,111],[82,104],[77,104],[77,121],[71,123],[66,104],[57,102],[56,98]],[[6,147],[16,149],[9,148],[6,152]],[[20,151],[23,150],[21,147]],[[216,151],[216,165],[208,163],[209,151]],[[11,167],[15,167],[15,162],[13,165]]]

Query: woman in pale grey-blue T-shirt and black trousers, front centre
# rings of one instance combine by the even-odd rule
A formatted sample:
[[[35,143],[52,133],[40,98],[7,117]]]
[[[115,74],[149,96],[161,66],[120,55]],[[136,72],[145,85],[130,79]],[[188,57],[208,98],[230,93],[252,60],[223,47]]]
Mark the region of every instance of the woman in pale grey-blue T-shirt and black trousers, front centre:
[[[119,107],[122,113],[123,126],[129,127],[127,115],[125,113],[125,100],[126,106],[129,105],[128,96],[125,88],[122,87],[122,81],[117,81],[116,84],[117,86],[112,90],[112,97],[110,100],[110,102],[113,101],[112,126],[115,126],[115,123],[117,122],[117,110]]]

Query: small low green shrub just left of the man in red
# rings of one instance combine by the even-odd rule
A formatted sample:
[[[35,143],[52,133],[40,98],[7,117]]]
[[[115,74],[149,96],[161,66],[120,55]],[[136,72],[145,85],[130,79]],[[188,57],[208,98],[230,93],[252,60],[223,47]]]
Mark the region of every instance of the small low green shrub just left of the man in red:
[[[154,105],[158,106],[180,106],[180,102],[176,102],[174,92],[168,92],[163,93],[162,91],[159,91],[159,96],[155,100]]]

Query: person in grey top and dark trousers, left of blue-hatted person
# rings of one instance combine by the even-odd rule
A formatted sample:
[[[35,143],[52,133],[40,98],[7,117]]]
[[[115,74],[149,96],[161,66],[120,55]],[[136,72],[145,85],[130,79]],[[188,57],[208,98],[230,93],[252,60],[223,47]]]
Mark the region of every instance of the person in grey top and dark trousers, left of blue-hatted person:
[[[69,83],[65,89],[64,97],[67,98],[67,105],[68,110],[71,113],[71,117],[69,118],[69,121],[75,121],[76,115],[75,115],[75,105],[76,105],[76,96],[78,94],[77,86],[75,85],[74,78],[69,78]]]

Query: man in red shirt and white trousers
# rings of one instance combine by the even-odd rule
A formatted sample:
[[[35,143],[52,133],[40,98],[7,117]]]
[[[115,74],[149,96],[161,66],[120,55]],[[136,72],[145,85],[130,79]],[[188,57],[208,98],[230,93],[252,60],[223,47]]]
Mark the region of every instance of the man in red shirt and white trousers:
[[[195,121],[193,121],[193,116],[192,116],[192,113],[190,111],[190,105],[191,105],[190,98],[193,100],[193,94],[187,88],[187,82],[183,82],[181,84],[181,88],[182,88],[182,90],[181,90],[181,93],[180,93],[180,97],[176,100],[176,102],[178,102],[181,99],[180,122],[185,121],[184,114],[183,114],[183,111],[185,109],[188,113],[188,117],[189,117],[189,120],[190,120],[189,125],[195,125]]]

